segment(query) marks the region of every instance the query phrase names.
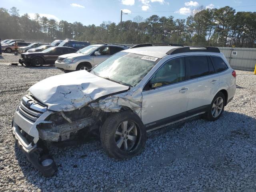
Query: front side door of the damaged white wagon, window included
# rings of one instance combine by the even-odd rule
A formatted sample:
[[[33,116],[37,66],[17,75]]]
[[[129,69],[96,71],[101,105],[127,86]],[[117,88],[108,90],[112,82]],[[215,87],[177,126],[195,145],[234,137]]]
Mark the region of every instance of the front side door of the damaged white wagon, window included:
[[[163,64],[142,91],[142,122],[147,130],[185,116],[188,104],[188,81],[184,58]],[[144,88],[144,89],[145,89]]]

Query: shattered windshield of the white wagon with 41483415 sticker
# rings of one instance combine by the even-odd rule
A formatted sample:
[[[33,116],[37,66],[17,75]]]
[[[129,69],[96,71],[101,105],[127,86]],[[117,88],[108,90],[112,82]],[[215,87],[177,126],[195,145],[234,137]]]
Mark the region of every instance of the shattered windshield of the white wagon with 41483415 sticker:
[[[156,65],[158,58],[118,52],[92,69],[91,73],[128,86],[136,86]]]

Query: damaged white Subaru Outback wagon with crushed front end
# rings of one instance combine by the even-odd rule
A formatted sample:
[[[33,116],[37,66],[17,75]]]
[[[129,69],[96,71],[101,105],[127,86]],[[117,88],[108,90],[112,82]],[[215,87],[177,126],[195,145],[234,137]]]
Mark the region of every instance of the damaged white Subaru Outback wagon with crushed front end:
[[[44,176],[56,171],[45,142],[96,132],[110,157],[129,158],[146,132],[203,114],[217,120],[236,91],[218,48],[140,44],[90,72],[52,76],[29,88],[12,122],[18,146]]]

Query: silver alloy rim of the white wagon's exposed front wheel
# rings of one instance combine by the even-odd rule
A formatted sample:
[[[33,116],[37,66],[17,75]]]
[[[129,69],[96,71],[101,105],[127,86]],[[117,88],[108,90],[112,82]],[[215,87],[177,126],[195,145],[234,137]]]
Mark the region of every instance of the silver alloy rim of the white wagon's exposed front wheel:
[[[116,146],[122,151],[130,151],[137,144],[138,130],[132,121],[124,121],[118,125],[115,133]]]

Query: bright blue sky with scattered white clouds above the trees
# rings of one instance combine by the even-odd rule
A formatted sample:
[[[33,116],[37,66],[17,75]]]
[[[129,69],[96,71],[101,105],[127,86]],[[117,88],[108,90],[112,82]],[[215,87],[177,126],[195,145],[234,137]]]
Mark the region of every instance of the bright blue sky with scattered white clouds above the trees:
[[[57,21],[78,21],[96,26],[103,21],[120,22],[121,10],[128,12],[123,15],[123,20],[132,20],[137,15],[145,19],[152,14],[186,18],[201,5],[209,8],[232,6],[236,11],[256,10],[255,0],[0,0],[0,7],[16,6],[20,15],[28,13],[33,17],[39,13]]]

